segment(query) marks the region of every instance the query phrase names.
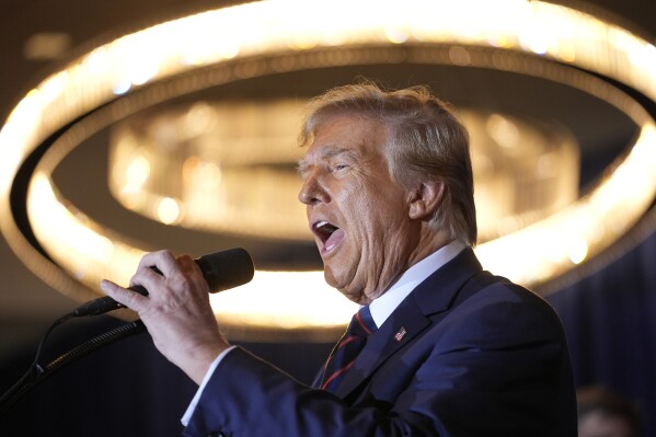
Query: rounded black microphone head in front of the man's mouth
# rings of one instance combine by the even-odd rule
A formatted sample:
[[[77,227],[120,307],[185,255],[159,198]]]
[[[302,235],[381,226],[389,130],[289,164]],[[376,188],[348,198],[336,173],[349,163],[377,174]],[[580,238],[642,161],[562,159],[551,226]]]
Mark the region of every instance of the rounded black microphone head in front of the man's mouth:
[[[203,271],[203,277],[207,280],[210,292],[248,284],[255,273],[251,255],[242,248],[200,256],[196,260],[196,264]]]

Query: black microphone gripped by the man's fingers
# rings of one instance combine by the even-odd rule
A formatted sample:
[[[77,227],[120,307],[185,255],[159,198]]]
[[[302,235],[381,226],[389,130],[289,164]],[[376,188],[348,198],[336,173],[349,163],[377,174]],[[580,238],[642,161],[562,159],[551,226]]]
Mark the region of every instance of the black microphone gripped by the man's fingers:
[[[255,272],[251,255],[242,248],[216,252],[194,261],[200,267],[203,278],[207,281],[210,292],[223,291],[248,284],[253,279]],[[130,287],[129,289],[139,295],[148,296],[148,290],[141,286]],[[119,308],[125,308],[125,306],[105,296],[78,307],[72,314],[76,317],[97,315]]]

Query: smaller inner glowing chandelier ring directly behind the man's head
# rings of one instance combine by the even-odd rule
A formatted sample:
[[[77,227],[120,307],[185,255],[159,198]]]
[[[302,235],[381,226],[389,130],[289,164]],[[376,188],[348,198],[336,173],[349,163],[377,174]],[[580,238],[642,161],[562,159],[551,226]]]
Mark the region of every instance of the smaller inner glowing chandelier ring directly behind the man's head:
[[[307,102],[195,102],[112,127],[110,187],[127,209],[165,225],[313,241],[297,200],[295,147]],[[578,146],[562,126],[459,107],[474,169],[479,242],[516,231],[578,197]],[[165,140],[162,140],[165,138]],[[166,152],[162,152],[165,145]],[[177,211],[163,216],[162,196]]]

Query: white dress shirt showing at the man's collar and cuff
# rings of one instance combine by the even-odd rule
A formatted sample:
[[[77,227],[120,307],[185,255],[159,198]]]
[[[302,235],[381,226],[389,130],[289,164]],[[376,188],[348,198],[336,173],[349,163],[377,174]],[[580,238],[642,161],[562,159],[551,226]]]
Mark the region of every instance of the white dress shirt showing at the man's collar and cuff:
[[[462,252],[464,248],[464,243],[458,240],[452,241],[405,271],[405,273],[403,273],[403,275],[401,275],[399,279],[396,279],[396,281],[388,288],[387,291],[384,291],[378,299],[373,300],[369,304],[369,310],[371,311],[371,317],[373,318],[376,326],[382,325],[390,314],[394,312],[396,307],[399,307],[399,304],[403,301],[403,299],[405,299],[417,285],[423,283],[439,267],[454,258],[456,255]],[[196,410],[196,405],[200,400],[203,390],[205,389],[205,386],[207,386],[207,382],[209,382],[212,373],[223,360],[223,357],[226,357],[226,355],[228,355],[234,347],[237,346],[230,346],[220,353],[209,366],[203,382],[196,391],[196,395],[194,395],[194,399],[192,399],[187,411],[184,413],[184,416],[182,416],[181,422],[184,426],[187,426],[189,423],[189,419],[194,414],[194,410]]]

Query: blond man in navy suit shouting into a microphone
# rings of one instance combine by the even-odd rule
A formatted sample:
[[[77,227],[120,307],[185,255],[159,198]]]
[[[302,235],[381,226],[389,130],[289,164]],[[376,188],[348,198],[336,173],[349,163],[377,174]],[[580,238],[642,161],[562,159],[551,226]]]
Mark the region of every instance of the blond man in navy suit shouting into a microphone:
[[[325,279],[376,326],[355,360],[330,369],[341,342],[321,388],[306,387],[230,348],[191,257],[146,255],[130,285],[149,297],[102,287],[200,384],[185,435],[575,436],[556,315],[471,249],[469,140],[445,104],[423,88],[338,88],[312,102],[301,142],[299,199]]]

